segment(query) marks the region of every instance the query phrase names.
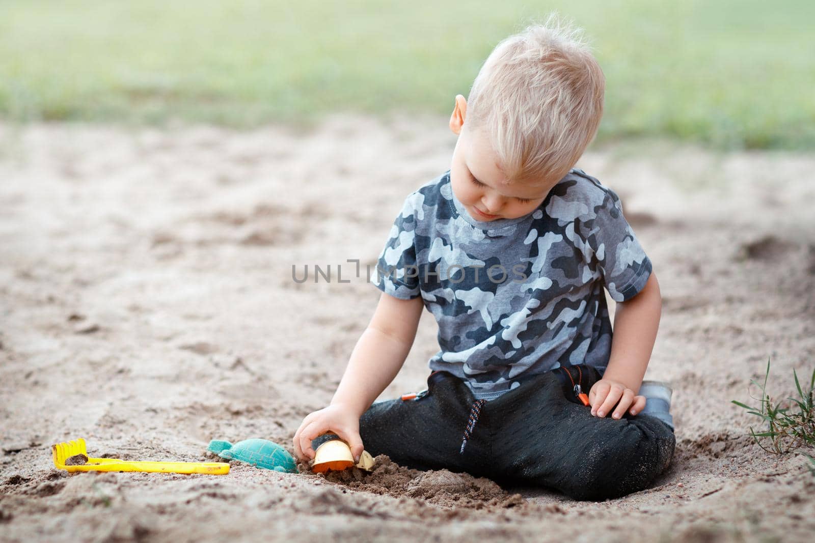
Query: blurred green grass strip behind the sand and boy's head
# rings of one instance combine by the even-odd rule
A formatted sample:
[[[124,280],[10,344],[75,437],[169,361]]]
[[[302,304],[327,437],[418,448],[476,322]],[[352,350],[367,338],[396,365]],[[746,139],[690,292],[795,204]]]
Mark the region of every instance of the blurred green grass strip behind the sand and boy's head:
[[[815,147],[815,2],[0,0],[0,116],[252,127],[449,115],[551,10],[606,72],[600,141]]]

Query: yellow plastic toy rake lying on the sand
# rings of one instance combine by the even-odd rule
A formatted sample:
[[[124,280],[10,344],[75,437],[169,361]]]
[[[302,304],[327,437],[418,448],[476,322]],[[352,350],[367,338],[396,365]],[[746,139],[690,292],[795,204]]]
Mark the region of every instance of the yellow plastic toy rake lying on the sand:
[[[54,454],[54,465],[60,470],[67,470],[71,473],[74,471],[143,471],[145,473],[204,473],[208,475],[229,473],[229,464],[226,462],[139,462],[119,458],[88,458],[83,439],[51,445],[51,453]],[[86,462],[76,466],[66,466],[65,460],[77,454],[84,455],[87,458]]]

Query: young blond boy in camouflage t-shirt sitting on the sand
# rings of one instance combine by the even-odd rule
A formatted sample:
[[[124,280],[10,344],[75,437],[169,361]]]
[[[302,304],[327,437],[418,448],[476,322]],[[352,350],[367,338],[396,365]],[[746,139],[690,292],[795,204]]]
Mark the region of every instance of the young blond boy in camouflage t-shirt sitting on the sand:
[[[456,96],[450,170],[394,221],[376,313],[331,405],[297,430],[298,458],[314,458],[311,440],[330,431],[355,458],[364,447],[577,499],[641,490],[667,467],[670,415],[643,415],[637,395],[659,285],[617,195],[572,169],[597,132],[604,85],[575,32],[557,24],[496,46],[469,103]],[[613,335],[603,287],[618,303]],[[428,389],[372,405],[423,308],[440,348]]]

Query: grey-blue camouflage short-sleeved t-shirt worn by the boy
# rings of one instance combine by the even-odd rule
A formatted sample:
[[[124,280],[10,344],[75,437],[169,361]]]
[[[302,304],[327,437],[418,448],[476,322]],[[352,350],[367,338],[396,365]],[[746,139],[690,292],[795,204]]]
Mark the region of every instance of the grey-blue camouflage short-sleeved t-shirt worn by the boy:
[[[422,297],[438,322],[430,368],[490,400],[558,366],[604,369],[603,287],[628,300],[650,273],[619,198],[582,170],[534,212],[496,221],[469,216],[447,171],[407,196],[371,279],[390,296]]]

